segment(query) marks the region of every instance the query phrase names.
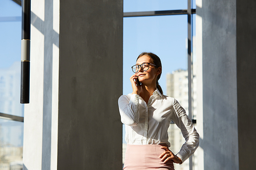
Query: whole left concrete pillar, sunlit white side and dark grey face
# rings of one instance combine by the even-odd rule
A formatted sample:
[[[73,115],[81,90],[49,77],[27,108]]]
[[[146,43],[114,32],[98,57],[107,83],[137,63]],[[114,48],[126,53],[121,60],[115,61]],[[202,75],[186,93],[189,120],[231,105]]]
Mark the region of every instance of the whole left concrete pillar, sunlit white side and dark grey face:
[[[24,169],[121,169],[122,1],[31,4]]]

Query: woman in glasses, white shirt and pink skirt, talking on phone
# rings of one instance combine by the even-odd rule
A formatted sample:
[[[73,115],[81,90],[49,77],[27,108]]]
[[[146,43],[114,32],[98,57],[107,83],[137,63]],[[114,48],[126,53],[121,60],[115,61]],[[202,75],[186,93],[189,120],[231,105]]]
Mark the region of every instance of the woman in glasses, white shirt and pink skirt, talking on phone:
[[[174,169],[173,163],[181,164],[195,152],[199,135],[180,104],[163,95],[158,84],[162,66],[157,55],[140,54],[132,69],[133,92],[118,100],[127,142],[123,169]],[[172,120],[186,140],[176,155],[168,149],[167,129]]]

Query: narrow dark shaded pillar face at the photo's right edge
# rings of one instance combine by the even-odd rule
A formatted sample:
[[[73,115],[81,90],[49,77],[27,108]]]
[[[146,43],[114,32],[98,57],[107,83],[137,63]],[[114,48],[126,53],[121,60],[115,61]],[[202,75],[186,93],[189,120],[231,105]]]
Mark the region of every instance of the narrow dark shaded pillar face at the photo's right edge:
[[[237,1],[239,169],[256,167],[256,1]]]

